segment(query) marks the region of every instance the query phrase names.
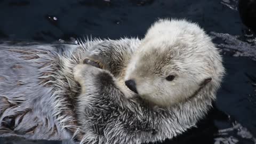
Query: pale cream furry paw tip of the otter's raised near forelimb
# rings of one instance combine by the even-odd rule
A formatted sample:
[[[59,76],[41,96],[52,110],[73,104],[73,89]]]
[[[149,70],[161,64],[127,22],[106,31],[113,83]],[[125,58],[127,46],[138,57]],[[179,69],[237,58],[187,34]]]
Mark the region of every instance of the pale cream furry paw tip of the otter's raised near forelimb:
[[[73,74],[74,74],[75,81],[80,83],[84,79],[90,79],[90,77],[100,73],[100,71],[101,69],[91,65],[78,64],[74,67]]]

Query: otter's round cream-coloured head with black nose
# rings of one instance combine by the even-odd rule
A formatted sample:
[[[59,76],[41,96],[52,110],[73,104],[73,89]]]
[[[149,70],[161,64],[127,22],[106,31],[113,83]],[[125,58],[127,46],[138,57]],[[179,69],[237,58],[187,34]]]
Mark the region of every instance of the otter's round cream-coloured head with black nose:
[[[126,70],[125,84],[159,106],[190,97],[215,98],[225,70],[203,29],[186,20],[152,25]]]

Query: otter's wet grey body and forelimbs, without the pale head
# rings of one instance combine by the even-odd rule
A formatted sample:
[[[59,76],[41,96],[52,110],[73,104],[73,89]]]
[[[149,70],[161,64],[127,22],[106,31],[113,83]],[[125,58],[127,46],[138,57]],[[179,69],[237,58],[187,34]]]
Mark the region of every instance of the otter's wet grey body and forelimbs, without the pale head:
[[[119,85],[140,44],[138,38],[94,39],[79,45],[1,44],[0,134],[141,143],[173,138],[195,126],[215,99],[223,69],[217,73],[218,81],[213,79],[194,97],[171,107],[149,107],[139,97],[127,99]],[[87,55],[98,55],[107,65],[106,70],[86,66],[79,95],[73,69]],[[216,58],[221,62],[220,55]]]

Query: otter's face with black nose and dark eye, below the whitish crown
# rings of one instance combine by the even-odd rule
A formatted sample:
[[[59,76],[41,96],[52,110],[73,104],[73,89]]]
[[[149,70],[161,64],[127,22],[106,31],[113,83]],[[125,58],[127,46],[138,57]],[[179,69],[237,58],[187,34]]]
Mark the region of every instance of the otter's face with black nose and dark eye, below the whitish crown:
[[[125,84],[143,99],[170,106],[193,95],[204,80],[193,74],[175,51],[152,49],[137,53],[127,68]],[[193,63],[190,63],[193,65]]]

